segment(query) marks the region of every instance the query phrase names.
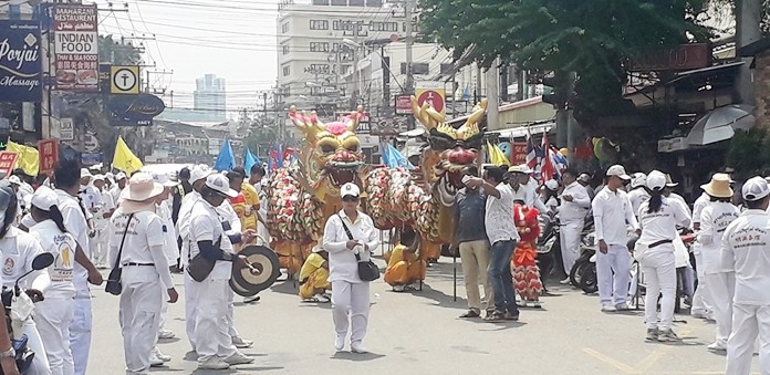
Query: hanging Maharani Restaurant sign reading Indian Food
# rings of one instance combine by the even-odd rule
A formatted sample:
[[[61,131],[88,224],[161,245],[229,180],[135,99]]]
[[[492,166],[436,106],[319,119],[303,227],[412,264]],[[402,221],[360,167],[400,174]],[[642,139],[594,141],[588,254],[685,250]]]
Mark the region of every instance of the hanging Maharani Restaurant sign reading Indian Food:
[[[98,91],[97,24],[96,4],[53,8],[56,90]]]

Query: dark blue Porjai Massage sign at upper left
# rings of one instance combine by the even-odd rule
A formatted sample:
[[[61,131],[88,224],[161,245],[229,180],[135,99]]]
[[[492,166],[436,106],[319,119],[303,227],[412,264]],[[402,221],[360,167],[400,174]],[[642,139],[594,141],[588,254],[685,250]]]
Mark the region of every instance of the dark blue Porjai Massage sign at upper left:
[[[0,102],[40,103],[40,22],[0,20]]]

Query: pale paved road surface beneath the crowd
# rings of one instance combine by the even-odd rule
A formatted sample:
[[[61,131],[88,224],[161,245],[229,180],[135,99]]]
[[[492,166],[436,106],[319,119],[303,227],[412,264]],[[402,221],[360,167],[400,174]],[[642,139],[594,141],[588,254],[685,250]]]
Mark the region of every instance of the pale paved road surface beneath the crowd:
[[[458,274],[461,271],[458,263]],[[180,293],[181,278],[175,279]],[[683,344],[644,342],[642,312],[604,314],[596,296],[553,287],[542,311],[523,310],[518,323],[460,320],[465,289],[452,300],[451,259],[428,269],[423,291],[394,293],[382,281],[372,285],[372,313],[365,341],[373,353],[335,353],[329,304],[300,302],[292,282],[279,281],[261,302],[237,305],[241,335],[257,341],[244,353],[252,365],[237,374],[722,374],[725,356],[707,352],[714,325],[679,316]],[[89,374],[124,368],[117,324],[117,298],[94,291],[94,338]],[[180,296],[180,301],[184,298]],[[180,338],[164,341],[174,360],[157,374],[221,374],[195,371],[184,334],[184,305],[169,310],[168,326]],[[755,362],[757,360],[755,358]],[[755,363],[755,371],[758,364]]]

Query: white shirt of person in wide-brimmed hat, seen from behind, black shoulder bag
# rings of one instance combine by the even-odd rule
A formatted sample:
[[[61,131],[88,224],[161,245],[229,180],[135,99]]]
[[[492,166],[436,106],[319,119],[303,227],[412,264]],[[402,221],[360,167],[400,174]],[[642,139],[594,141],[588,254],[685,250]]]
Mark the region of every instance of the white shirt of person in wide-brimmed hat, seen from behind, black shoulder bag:
[[[121,259],[117,262],[121,267],[142,267],[144,269],[155,268],[160,281],[166,289],[173,288],[171,274],[168,270],[166,260],[165,235],[163,232],[163,219],[154,212],[139,211],[128,222],[131,216],[117,209],[110,220],[110,264],[115,264],[119,252],[123,235],[125,242]],[[126,230],[126,225],[128,226]],[[143,265],[131,265],[136,263]],[[124,277],[126,273],[124,272]]]

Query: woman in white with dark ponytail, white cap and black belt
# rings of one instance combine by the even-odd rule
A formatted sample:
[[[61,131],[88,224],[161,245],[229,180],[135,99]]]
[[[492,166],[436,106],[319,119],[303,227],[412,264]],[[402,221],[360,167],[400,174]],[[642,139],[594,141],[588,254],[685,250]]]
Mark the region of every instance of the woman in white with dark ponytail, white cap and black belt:
[[[636,241],[636,260],[642,265],[647,293],[644,303],[647,340],[659,342],[679,341],[672,330],[674,322],[674,301],[676,299],[676,260],[674,240],[679,237],[676,226],[687,227],[690,217],[678,204],[663,197],[666,176],[653,170],[647,176],[649,200],[639,207],[642,236]],[[660,299],[658,323],[657,300]]]

